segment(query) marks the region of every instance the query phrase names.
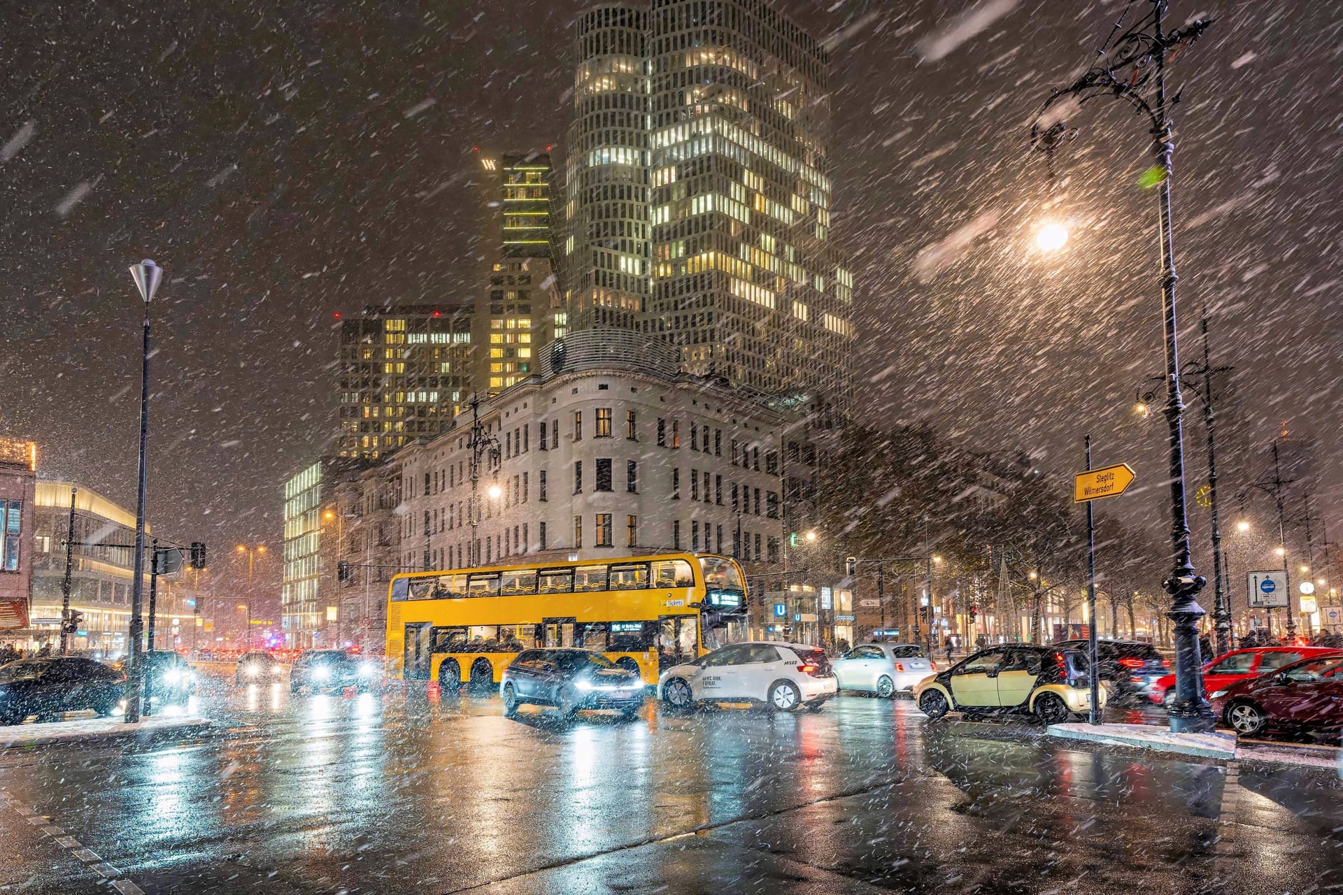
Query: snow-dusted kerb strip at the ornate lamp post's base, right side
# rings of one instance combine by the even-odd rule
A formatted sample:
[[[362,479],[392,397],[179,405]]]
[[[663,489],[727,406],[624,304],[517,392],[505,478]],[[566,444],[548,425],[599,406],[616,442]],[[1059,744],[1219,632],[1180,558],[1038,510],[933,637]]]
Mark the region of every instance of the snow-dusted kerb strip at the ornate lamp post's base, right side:
[[[1343,749],[1266,741],[1238,742],[1236,734],[1172,734],[1166,727],[1150,725],[1049,725],[1049,735],[1081,739],[1105,746],[1128,746],[1176,755],[1197,755],[1222,761],[1261,761],[1277,765],[1339,769],[1343,773]]]

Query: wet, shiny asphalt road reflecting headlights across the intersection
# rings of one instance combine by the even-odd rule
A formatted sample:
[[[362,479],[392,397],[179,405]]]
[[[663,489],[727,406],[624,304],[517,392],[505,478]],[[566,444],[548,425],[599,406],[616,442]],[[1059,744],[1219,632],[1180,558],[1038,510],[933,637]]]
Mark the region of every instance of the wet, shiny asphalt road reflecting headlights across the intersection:
[[[928,725],[907,699],[572,723],[497,698],[197,700],[204,734],[0,751],[0,892],[113,891],[99,870],[130,895],[1343,887],[1334,773]]]

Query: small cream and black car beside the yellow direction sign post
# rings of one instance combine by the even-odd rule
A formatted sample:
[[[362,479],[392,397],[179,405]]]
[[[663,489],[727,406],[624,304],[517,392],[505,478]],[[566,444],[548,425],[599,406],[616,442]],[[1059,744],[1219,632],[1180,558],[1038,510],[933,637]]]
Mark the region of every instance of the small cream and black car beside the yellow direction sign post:
[[[980,649],[919,683],[915,700],[935,721],[948,711],[1030,713],[1048,725],[1062,723],[1091,711],[1086,656],[1031,644]]]

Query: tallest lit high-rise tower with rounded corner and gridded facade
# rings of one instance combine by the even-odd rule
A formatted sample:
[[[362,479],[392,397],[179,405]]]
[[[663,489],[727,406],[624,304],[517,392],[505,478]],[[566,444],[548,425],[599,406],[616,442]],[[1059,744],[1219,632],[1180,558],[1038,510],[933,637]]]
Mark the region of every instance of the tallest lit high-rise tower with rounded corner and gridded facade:
[[[603,5],[577,46],[571,331],[635,329],[689,373],[842,409],[854,278],[831,240],[827,51],[763,0]]]

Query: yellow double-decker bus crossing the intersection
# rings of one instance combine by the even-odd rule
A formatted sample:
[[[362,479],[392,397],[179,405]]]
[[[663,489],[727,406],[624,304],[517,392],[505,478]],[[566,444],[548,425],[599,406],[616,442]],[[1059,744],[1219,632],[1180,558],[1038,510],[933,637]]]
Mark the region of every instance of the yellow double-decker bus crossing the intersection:
[[[522,649],[587,647],[655,684],[658,670],[745,639],[735,560],[667,553],[392,577],[392,674],[445,690],[498,684]]]

